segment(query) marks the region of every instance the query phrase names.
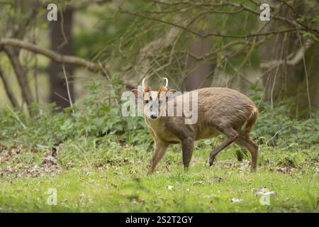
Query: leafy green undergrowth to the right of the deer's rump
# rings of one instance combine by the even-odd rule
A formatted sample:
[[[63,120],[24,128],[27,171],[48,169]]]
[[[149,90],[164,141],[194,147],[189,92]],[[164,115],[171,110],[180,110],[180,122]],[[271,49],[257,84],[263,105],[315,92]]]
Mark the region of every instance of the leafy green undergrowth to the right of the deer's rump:
[[[291,103],[271,106],[267,102],[260,104],[262,89],[251,86],[250,97],[259,106],[259,117],[252,131],[252,136],[259,143],[289,148],[310,148],[319,144],[319,115],[314,113],[311,118],[296,120],[290,113]]]

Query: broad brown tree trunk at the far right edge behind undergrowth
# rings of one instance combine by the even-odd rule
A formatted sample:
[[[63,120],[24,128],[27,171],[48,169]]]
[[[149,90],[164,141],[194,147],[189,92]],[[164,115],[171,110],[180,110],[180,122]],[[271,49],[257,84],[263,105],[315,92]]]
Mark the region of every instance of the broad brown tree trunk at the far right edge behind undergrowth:
[[[269,0],[267,3],[277,7],[281,4],[277,16],[306,26],[309,24],[306,18],[315,18],[319,13],[315,1]],[[262,22],[262,26],[263,31],[273,31],[288,25],[271,19]],[[318,43],[305,34],[301,36],[300,32],[276,34],[259,46],[266,101],[276,104],[293,99],[296,113],[319,108],[318,47]]]

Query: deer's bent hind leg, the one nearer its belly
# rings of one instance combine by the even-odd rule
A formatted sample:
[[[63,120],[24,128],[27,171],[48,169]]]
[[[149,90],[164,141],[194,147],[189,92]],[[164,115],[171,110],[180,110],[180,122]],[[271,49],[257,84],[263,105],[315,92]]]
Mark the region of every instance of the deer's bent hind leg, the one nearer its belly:
[[[238,138],[238,133],[235,131],[234,128],[218,128],[218,131],[225,134],[227,136],[227,139],[220,144],[217,148],[211,151],[209,154],[209,165],[213,165],[215,161],[216,155],[220,153],[224,148],[228,147],[231,143],[233,143]]]

